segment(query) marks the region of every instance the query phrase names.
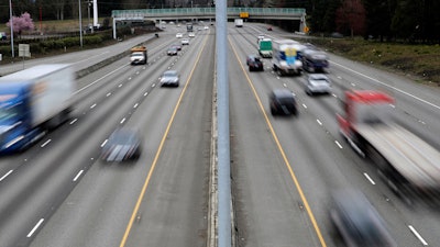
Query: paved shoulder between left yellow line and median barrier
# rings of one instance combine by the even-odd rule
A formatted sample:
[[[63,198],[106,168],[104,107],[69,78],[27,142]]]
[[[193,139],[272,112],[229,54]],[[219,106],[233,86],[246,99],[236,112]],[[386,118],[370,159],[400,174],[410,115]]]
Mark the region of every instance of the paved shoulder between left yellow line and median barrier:
[[[205,40],[205,38],[204,38]],[[215,40],[195,67],[124,246],[202,246],[207,242]],[[186,53],[186,56],[189,54]],[[194,68],[194,71],[191,70]],[[182,86],[184,87],[184,86]],[[147,235],[145,234],[147,233]],[[173,235],[170,238],[169,235]]]

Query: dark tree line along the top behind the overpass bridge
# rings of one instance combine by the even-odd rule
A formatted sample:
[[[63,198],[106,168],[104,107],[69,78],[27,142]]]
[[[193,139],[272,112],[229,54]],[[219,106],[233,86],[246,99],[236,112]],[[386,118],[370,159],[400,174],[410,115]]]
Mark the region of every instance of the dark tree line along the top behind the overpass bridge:
[[[11,0],[13,15],[34,21],[87,16],[90,0]],[[212,7],[215,0],[98,0],[100,16],[111,10]],[[229,0],[230,7],[304,8],[311,33],[362,35],[380,41],[440,43],[439,0]],[[9,0],[0,0],[0,21],[9,21]]]

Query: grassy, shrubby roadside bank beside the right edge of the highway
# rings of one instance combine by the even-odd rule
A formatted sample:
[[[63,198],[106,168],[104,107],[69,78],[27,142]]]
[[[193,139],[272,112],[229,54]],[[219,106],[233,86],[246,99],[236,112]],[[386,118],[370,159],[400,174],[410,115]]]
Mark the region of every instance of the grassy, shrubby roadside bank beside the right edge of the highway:
[[[343,57],[378,66],[420,83],[440,86],[440,45],[377,42],[358,38],[309,38],[323,49]]]

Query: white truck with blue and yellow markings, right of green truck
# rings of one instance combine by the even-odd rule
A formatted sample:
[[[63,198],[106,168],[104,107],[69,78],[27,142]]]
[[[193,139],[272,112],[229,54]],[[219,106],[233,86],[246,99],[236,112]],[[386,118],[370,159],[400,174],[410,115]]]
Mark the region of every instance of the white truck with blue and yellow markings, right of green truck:
[[[275,40],[272,43],[273,70],[279,76],[300,75],[304,45],[293,40]]]

